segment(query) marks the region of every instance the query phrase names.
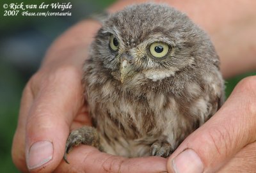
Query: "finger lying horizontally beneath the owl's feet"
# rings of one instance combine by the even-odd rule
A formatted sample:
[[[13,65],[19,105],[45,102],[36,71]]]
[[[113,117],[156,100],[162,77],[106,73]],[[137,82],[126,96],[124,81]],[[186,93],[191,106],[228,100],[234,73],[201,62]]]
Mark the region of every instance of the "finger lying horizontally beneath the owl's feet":
[[[68,154],[68,161],[62,162],[54,172],[122,172],[122,173],[157,173],[167,172],[166,158],[123,158],[101,153],[91,146],[79,146]]]

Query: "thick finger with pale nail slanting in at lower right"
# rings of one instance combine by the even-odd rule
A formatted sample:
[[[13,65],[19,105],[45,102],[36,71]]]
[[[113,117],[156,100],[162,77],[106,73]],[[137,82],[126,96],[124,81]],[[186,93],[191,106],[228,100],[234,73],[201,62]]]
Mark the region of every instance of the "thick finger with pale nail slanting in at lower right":
[[[216,172],[256,140],[256,78],[239,82],[227,102],[180,144],[168,160],[171,172]]]

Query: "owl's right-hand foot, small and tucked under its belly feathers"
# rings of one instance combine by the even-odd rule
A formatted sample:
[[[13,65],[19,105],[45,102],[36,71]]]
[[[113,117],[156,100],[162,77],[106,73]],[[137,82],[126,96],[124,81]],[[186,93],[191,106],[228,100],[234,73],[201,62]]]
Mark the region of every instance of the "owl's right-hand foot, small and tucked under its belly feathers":
[[[152,144],[151,155],[167,158],[173,153],[173,147],[166,140],[159,140]]]

